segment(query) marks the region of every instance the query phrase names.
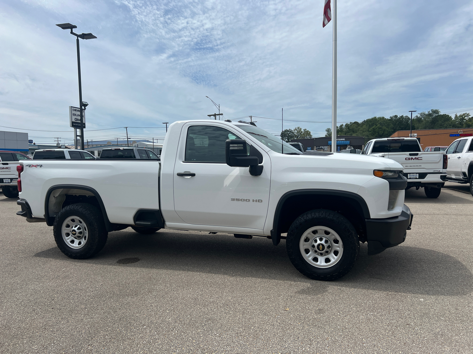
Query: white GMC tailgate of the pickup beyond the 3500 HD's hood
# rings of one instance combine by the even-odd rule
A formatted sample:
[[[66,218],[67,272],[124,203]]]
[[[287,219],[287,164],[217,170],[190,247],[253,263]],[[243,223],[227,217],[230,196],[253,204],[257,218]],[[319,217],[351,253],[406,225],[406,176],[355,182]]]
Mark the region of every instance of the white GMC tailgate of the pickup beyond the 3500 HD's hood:
[[[387,152],[385,157],[403,165],[404,173],[408,172],[442,172],[442,151],[433,152]]]

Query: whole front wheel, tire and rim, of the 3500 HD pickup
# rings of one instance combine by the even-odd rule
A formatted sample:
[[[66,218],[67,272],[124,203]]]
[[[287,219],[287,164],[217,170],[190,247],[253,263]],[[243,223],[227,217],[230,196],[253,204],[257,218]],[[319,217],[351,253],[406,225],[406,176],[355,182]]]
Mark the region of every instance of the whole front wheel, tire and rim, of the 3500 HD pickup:
[[[353,268],[359,239],[348,219],[319,209],[302,214],[292,223],[286,248],[294,267],[306,277],[335,280]]]

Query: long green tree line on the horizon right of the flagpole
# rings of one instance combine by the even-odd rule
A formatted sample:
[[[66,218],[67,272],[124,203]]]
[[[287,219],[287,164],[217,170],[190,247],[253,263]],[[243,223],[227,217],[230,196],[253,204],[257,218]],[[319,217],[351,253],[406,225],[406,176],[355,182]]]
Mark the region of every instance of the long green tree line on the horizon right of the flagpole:
[[[448,128],[471,128],[473,117],[470,113],[455,114],[452,118],[448,114],[442,114],[440,110],[429,110],[420,112],[412,117],[412,130],[416,129],[448,129]],[[367,139],[382,138],[393,135],[398,130],[410,130],[410,116],[372,117],[362,122],[350,122],[337,126],[337,135],[358,135]],[[332,136],[332,129],[325,129],[325,136]]]

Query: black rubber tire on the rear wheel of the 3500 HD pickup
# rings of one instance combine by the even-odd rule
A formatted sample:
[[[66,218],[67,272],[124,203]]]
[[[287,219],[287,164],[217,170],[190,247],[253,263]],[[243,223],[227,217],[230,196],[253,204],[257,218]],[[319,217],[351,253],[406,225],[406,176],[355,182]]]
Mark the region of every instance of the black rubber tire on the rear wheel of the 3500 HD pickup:
[[[85,222],[88,232],[85,244],[79,249],[70,247],[61,232],[64,221],[73,216]],[[71,204],[62,208],[54,219],[53,234],[61,252],[74,259],[86,259],[100,252],[104,248],[108,236],[102,212],[88,203]]]

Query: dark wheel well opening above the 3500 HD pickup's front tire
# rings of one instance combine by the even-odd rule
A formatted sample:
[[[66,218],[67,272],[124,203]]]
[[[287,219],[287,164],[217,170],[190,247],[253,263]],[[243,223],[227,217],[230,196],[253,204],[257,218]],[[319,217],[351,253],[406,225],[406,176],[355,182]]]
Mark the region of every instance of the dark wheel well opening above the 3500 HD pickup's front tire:
[[[366,204],[364,205],[367,209]],[[333,194],[296,194],[286,198],[280,209],[274,230],[277,234],[288,232],[290,226],[300,215],[314,209],[328,209],[342,214],[357,230],[361,242],[366,241],[366,216],[359,201],[350,196]],[[277,222],[277,225],[276,225]]]

